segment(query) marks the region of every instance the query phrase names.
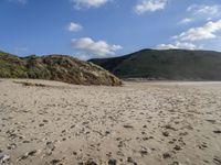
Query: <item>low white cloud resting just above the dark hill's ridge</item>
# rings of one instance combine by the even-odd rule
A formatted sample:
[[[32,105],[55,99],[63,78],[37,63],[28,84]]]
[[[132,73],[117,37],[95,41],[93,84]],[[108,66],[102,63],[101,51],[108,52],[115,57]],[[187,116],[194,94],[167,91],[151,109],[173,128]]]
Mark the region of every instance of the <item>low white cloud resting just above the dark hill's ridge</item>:
[[[158,50],[177,50],[177,48],[183,48],[183,50],[196,50],[197,46],[192,43],[181,43],[176,42],[175,44],[160,44],[157,46]]]

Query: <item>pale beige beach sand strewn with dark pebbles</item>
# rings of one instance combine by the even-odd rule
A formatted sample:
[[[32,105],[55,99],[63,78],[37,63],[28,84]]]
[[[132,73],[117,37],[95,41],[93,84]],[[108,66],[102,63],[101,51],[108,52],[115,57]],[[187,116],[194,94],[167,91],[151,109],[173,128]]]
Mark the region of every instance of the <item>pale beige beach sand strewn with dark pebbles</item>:
[[[220,165],[221,82],[96,87],[1,79],[3,162]]]

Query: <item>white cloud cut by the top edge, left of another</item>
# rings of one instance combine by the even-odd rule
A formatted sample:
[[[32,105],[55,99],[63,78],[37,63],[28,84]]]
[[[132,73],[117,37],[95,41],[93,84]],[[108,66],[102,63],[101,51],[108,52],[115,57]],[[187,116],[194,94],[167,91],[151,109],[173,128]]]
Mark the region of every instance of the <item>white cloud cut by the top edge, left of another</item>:
[[[104,6],[109,0],[71,0],[74,3],[75,9],[82,8],[98,8]]]

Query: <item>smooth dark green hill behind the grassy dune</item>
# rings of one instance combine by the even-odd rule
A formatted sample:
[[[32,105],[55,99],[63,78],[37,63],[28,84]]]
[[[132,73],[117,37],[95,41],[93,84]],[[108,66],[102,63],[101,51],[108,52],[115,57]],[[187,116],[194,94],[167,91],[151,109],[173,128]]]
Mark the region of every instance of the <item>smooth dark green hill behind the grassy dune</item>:
[[[143,50],[126,56],[91,59],[120,78],[221,80],[221,53]]]

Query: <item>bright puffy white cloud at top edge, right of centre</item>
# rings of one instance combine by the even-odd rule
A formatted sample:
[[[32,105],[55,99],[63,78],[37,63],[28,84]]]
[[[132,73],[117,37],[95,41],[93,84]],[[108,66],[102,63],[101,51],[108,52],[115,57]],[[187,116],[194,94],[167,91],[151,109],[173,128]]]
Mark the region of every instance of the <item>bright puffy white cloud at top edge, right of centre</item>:
[[[167,0],[143,0],[135,7],[135,12],[141,14],[144,12],[154,12],[165,9]]]

